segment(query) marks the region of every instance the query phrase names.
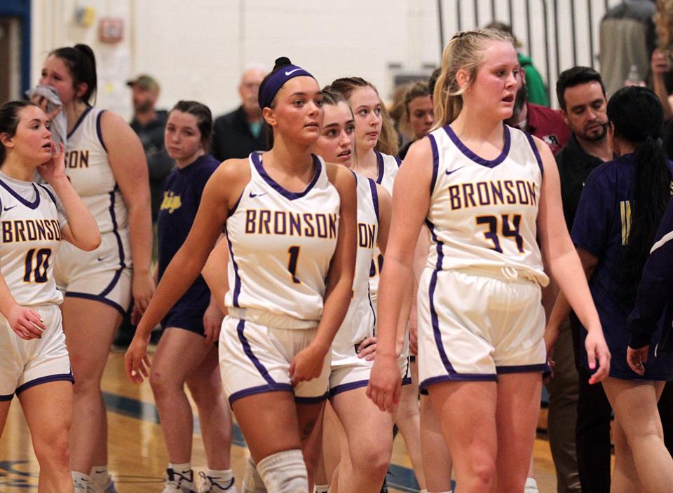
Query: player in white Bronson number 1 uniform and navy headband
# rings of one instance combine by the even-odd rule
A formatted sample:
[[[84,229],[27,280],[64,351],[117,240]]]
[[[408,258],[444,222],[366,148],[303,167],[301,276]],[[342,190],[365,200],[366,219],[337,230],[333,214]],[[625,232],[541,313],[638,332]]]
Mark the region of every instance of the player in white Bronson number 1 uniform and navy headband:
[[[355,179],[311,154],[323,116],[311,74],[278,59],[261,83],[259,105],[273,130],[271,150],[227,160],[212,174],[191,232],[138,325],[126,370],[137,382],[147,377],[151,328],[196,278],[226,227],[229,314],[220,369],[256,464],[243,491],[307,493],[302,440],[327,398],[329,349],[351,300]],[[254,483],[259,478],[262,485]]]

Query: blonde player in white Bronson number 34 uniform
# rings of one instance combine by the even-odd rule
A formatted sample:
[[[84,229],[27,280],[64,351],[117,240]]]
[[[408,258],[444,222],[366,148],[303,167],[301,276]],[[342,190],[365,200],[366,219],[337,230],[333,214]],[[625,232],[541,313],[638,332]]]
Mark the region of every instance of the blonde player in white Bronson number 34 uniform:
[[[521,492],[546,368],[539,237],[546,264],[588,328],[597,382],[609,351],[565,228],[546,144],[507,127],[519,69],[500,32],[456,34],[435,87],[437,130],[409,149],[395,181],[368,395],[400,395],[395,324],[424,221],[432,233],[420,281],[419,373],[454,461],[458,492]],[[391,282],[393,279],[396,282]],[[496,480],[497,477],[497,480]]]

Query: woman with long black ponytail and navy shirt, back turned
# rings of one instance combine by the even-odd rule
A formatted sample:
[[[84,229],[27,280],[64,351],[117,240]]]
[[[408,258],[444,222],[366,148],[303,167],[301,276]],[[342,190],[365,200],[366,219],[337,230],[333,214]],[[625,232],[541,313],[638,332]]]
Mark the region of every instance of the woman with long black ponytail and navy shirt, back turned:
[[[627,317],[652,248],[655,232],[671,196],[673,162],[657,139],[663,110],[651,90],[618,90],[608,102],[609,138],[619,156],[594,169],[580,198],[572,239],[582,261],[611,354],[610,375],[603,382],[615,412],[613,427],[616,492],[666,492],[673,483],[673,460],[667,452],[657,410],[665,381],[673,378],[673,359],[655,358],[660,330],[641,364],[627,363]],[[567,313],[559,297],[549,326]],[[553,346],[556,332],[545,338]],[[586,331],[582,331],[585,338]],[[587,366],[586,354],[580,363]]]

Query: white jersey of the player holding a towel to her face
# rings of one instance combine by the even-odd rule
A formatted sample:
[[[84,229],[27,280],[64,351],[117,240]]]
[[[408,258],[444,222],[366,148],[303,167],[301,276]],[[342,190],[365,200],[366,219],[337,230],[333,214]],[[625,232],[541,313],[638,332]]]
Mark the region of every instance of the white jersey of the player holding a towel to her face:
[[[65,172],[98,223],[101,233],[126,230],[128,214],[117,188],[100,119],[104,110],[88,107],[68,135]]]

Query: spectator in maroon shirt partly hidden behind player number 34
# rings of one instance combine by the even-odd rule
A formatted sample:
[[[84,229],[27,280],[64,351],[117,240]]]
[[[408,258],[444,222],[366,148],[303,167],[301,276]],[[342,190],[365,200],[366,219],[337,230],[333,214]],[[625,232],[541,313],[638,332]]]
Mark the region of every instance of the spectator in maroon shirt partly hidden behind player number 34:
[[[517,75],[517,99],[514,104],[512,117],[505,120],[512,127],[519,127],[543,139],[556,154],[566,144],[571,136],[570,127],[564,121],[558,110],[533,104],[527,99],[526,71],[523,67]]]

